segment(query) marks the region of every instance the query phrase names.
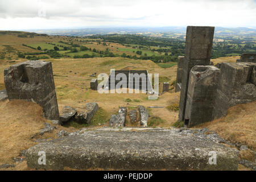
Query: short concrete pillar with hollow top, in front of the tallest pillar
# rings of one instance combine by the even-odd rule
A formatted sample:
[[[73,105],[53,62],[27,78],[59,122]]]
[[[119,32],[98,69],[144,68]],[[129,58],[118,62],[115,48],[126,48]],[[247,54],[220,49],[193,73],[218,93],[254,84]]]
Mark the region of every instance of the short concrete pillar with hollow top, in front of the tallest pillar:
[[[214,66],[195,66],[191,69],[185,109],[186,126],[212,120],[219,77],[220,69]]]

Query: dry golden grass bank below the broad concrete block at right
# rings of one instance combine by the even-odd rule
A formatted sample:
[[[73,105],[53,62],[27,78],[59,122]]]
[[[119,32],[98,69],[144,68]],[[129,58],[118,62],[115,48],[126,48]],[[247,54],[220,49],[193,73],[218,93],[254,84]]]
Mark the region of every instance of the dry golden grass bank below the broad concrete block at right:
[[[222,138],[246,144],[252,150],[256,150],[255,109],[256,101],[230,107],[226,117],[197,127],[208,127],[210,130],[216,131]]]

